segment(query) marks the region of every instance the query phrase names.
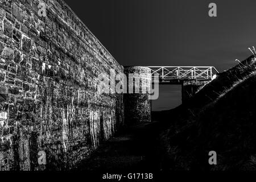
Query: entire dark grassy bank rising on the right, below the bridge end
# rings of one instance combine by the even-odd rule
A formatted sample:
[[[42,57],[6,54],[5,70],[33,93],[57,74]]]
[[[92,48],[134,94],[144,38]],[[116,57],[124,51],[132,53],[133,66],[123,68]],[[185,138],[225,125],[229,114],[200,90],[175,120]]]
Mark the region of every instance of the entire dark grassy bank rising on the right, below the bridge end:
[[[256,74],[253,57],[220,73],[180,106],[177,122],[162,135],[166,168],[256,169]],[[196,102],[195,102],[196,101]],[[209,166],[208,152],[217,152]]]

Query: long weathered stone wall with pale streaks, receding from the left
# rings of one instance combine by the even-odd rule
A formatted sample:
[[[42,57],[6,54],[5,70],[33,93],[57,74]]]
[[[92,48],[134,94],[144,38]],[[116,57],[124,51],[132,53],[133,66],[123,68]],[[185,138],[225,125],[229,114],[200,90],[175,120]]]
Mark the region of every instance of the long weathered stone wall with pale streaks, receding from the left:
[[[63,1],[0,0],[0,170],[69,169],[123,122],[123,96],[97,76],[123,72]],[[45,151],[46,166],[38,152]]]

